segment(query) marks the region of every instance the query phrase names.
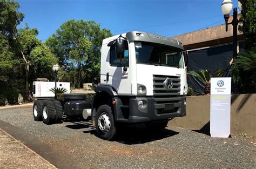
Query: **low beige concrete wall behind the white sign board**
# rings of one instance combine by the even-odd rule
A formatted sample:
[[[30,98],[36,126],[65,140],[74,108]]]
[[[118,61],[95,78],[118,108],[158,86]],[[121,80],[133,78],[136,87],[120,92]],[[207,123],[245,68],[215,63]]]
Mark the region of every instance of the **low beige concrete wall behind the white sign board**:
[[[187,116],[169,121],[171,126],[210,133],[210,96],[187,97]],[[231,96],[231,134],[256,137],[256,94]]]

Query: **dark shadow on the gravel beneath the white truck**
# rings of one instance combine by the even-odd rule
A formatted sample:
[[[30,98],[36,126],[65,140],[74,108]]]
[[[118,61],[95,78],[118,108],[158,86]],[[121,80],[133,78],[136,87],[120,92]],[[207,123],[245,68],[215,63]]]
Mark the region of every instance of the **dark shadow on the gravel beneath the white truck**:
[[[71,125],[66,125],[69,129],[79,130],[79,129],[88,129],[83,131],[83,133],[90,133],[97,136],[97,132],[95,127],[89,123],[84,121],[70,121]],[[160,140],[167,137],[175,136],[179,134],[179,132],[172,131],[169,129],[163,129],[158,131],[150,131],[147,130],[144,124],[137,124],[137,125],[127,125],[127,126],[119,126],[117,128],[116,137],[113,141],[117,141],[122,144],[143,144],[150,141]]]

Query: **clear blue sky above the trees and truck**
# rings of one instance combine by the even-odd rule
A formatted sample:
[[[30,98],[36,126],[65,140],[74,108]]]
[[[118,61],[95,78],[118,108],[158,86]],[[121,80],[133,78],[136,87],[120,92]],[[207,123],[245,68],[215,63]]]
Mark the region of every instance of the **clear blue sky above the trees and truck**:
[[[17,1],[17,0],[16,0]],[[113,35],[145,31],[173,37],[224,24],[223,0],[18,0],[23,22],[45,42],[69,19],[95,21]],[[238,6],[233,0],[233,6]]]

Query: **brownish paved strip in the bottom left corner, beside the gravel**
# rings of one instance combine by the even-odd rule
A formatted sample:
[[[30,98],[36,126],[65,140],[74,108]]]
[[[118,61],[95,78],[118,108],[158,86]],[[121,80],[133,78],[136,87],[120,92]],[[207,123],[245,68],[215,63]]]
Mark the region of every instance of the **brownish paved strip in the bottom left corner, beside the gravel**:
[[[0,168],[56,168],[0,130]]]

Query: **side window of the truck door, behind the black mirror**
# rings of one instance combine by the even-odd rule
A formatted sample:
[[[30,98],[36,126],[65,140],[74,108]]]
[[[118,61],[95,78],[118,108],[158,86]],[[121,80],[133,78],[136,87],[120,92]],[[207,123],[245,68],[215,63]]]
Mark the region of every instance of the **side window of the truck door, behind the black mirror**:
[[[125,41],[124,58],[122,59],[122,61],[125,64],[125,67],[129,67],[129,49],[128,49],[127,41]],[[122,64],[120,63],[120,59],[117,59],[117,56],[116,56],[116,45],[112,45],[110,47],[110,65],[122,67]]]

